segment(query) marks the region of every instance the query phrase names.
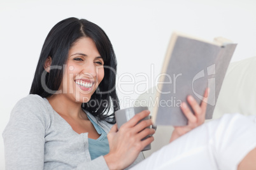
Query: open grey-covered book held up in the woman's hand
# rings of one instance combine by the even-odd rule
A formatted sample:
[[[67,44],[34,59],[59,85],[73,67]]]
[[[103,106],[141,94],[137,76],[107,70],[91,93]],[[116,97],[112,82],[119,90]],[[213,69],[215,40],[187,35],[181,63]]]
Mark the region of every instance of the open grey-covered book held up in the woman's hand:
[[[192,95],[201,103],[208,87],[206,119],[211,119],[235,48],[236,44],[221,37],[208,42],[174,33],[155,87],[157,106],[153,108],[153,123],[184,126],[187,118],[181,112],[181,102],[187,102],[187,96]]]

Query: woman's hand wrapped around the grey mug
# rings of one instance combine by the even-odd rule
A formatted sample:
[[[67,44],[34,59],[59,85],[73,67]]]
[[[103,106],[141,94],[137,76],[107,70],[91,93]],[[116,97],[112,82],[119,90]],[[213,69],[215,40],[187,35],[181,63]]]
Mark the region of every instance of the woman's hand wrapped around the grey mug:
[[[110,169],[124,169],[128,167],[138,157],[139,152],[146,145],[152,143],[153,136],[141,141],[146,136],[155,133],[154,129],[146,128],[152,125],[151,119],[139,122],[149,114],[148,110],[144,110],[134,115],[119,130],[117,129],[117,124],[111,128],[110,133],[108,133],[110,152],[104,155],[104,159]]]

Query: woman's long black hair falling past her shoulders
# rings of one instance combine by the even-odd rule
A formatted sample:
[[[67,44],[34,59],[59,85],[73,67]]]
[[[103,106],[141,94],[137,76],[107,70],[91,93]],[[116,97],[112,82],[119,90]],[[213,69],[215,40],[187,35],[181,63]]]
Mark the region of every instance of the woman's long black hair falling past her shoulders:
[[[59,89],[68,51],[82,37],[90,37],[94,41],[104,61],[104,78],[90,98],[94,103],[83,103],[82,108],[100,120],[115,123],[113,112],[120,108],[115,89],[117,71],[115,52],[104,30],[88,20],[67,18],[50,30],[39,56],[29,94],[47,98]],[[44,68],[48,56],[52,58],[50,72],[46,72]],[[109,113],[110,110],[112,113]]]

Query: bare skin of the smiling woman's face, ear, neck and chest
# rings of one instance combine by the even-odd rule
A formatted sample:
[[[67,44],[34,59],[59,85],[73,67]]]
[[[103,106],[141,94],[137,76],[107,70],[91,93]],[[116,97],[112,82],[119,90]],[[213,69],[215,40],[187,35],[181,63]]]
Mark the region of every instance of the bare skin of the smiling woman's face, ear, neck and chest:
[[[48,56],[45,69],[50,68],[52,59]],[[58,95],[47,97],[52,108],[60,114],[78,133],[89,133],[89,138],[97,139],[99,134],[90,125],[89,119],[81,110],[81,103],[90,100],[104,77],[103,58],[89,37],[81,37],[69,49],[68,59],[64,67],[64,75]],[[48,69],[50,72],[50,69]],[[70,106],[75,106],[70,110]],[[80,114],[75,114],[76,108]],[[68,112],[70,110],[70,112]],[[79,124],[78,124],[79,123]],[[89,124],[88,124],[89,123]]]

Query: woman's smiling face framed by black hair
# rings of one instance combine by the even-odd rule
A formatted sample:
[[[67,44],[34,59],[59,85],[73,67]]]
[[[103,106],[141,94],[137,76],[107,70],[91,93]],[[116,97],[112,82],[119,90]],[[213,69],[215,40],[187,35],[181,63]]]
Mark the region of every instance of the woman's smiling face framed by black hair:
[[[82,37],[69,49],[60,89],[78,102],[87,102],[104,77],[104,62],[94,41]]]

